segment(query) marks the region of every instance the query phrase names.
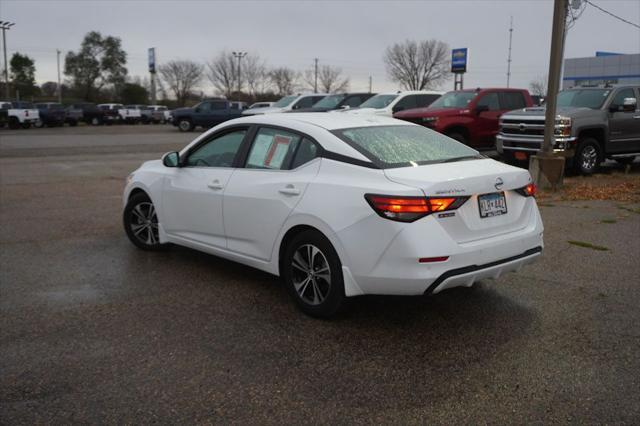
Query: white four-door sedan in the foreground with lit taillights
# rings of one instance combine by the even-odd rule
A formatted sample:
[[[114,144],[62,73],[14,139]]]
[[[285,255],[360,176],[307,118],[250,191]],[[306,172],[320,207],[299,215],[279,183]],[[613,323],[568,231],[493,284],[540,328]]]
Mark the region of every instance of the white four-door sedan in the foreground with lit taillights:
[[[422,295],[517,271],[542,252],[526,170],[376,116],[227,121],[128,177],[124,226],[280,276],[310,315],[352,296]]]

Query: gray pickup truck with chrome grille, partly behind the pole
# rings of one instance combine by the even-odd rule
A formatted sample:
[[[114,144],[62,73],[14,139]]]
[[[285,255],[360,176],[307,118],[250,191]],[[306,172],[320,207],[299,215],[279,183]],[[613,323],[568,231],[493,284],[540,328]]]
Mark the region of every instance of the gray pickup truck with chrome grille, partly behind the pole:
[[[558,94],[557,155],[576,172],[591,174],[606,158],[622,164],[640,155],[640,87],[579,87]],[[528,160],[540,150],[544,107],[510,111],[500,117],[496,146],[507,162]]]

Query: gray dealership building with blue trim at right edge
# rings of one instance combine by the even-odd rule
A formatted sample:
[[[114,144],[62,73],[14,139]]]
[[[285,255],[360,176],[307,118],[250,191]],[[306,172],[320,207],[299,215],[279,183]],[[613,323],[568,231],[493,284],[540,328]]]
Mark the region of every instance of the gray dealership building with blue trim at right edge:
[[[640,85],[640,53],[596,52],[596,56],[564,60],[563,89],[604,84]]]

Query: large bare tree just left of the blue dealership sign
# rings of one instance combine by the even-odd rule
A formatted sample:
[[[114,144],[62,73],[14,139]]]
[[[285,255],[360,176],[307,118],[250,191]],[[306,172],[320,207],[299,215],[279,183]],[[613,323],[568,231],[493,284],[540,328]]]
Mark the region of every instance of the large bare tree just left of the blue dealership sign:
[[[407,40],[387,47],[389,78],[408,90],[438,87],[450,78],[449,46],[439,40]]]

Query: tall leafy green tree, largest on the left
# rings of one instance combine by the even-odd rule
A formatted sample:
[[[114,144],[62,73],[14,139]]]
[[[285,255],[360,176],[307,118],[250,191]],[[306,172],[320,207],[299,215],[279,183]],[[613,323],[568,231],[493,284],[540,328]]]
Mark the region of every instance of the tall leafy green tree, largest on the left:
[[[68,52],[64,73],[71,77],[78,94],[89,101],[105,86],[116,91],[127,76],[127,53],[118,37],[103,37],[97,31],[87,33],[78,52]]]

